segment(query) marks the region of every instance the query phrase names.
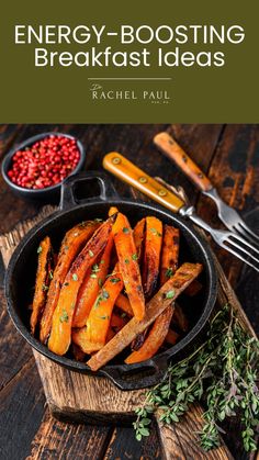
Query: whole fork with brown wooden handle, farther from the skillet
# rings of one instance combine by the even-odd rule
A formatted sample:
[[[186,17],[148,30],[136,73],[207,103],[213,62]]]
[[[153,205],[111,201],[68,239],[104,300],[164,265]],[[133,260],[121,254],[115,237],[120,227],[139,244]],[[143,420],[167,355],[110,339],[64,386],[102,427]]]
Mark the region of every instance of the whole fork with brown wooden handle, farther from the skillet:
[[[241,235],[244,238],[259,247],[259,236],[247,226],[240,215],[233,207],[224,203],[210,179],[185,154],[180,145],[168,133],[157,134],[154,137],[154,142],[167,157],[176,162],[181,171],[192,180],[203,194],[210,197],[215,202],[217,206],[217,215],[225,226],[230,232]]]

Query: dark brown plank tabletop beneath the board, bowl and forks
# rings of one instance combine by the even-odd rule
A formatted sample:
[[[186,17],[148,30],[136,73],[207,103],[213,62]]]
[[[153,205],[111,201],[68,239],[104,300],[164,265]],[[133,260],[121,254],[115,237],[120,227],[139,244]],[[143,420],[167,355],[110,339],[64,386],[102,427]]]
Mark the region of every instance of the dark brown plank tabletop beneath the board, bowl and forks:
[[[259,126],[252,125],[1,125],[0,156],[16,143],[46,131],[71,133],[87,150],[87,169],[100,169],[102,157],[119,150],[153,176],[184,187],[191,202],[209,222],[219,225],[214,205],[160,155],[153,136],[168,130],[214,181],[221,195],[259,228]],[[114,179],[123,197],[132,189]],[[32,217],[40,205],[12,194],[0,178],[0,232]],[[215,248],[232,285],[255,329],[259,330],[258,274],[234,257]],[[0,459],[154,459],[161,458],[155,428],[149,439],[137,442],[131,427],[69,425],[48,412],[30,347],[15,332],[5,312],[1,267],[0,323]],[[237,459],[245,459],[238,422],[227,424],[226,444]]]

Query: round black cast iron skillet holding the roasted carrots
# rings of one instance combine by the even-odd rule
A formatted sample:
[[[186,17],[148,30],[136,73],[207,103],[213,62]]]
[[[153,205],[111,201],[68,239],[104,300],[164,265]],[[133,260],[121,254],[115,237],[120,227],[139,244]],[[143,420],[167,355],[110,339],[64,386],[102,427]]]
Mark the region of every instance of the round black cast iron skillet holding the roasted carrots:
[[[94,182],[99,184],[99,195],[91,199],[79,199],[83,187],[89,192]],[[35,281],[37,247],[41,239],[49,235],[54,246],[58,247],[65,232],[81,221],[91,218],[106,218],[111,205],[115,205],[125,213],[132,225],[147,215],[155,215],[164,223],[174,225],[181,232],[181,257],[185,261],[202,262],[204,270],[202,294],[190,301],[189,307],[193,312],[192,328],[177,345],[160,352],[143,363],[121,364],[114,359],[111,364],[103,367],[97,374],[109,377],[122,390],[135,390],[154,385],[165,377],[169,360],[182,359],[195,345],[198,336],[204,329],[216,300],[216,274],[211,250],[192,228],[178,215],[172,215],[165,209],[142,202],[120,199],[112,182],[103,172],[81,172],[68,178],[61,188],[59,211],[45,218],[22,239],[15,249],[5,276],[5,296],[9,314],[20,334],[38,352],[65,368],[82,373],[92,373],[90,368],[75,359],[60,357],[47,349],[29,328],[30,312],[27,305],[32,300],[32,287]],[[194,303],[193,303],[194,302]],[[122,361],[121,361],[122,362]]]

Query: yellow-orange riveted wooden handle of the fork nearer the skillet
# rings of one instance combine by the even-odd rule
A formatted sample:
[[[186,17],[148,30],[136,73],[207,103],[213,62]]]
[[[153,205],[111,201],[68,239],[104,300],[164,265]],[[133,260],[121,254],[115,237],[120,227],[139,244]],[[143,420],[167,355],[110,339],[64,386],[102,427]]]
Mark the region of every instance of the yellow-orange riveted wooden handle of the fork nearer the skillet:
[[[111,152],[105,155],[102,165],[104,169],[112,172],[119,179],[135,187],[169,210],[178,212],[184,206],[184,202],[180,198],[147,176],[142,169],[137,168],[117,152]]]

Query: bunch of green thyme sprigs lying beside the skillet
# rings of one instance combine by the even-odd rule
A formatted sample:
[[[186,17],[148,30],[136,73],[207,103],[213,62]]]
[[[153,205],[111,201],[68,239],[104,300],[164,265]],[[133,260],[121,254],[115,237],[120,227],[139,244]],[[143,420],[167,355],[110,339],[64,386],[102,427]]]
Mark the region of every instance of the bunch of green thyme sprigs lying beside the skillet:
[[[196,401],[205,403],[204,425],[199,434],[204,450],[219,446],[221,423],[239,416],[246,451],[257,449],[259,426],[259,341],[243,328],[230,305],[211,322],[206,340],[181,362],[171,364],[166,379],[149,390],[133,424],[136,438],[149,435],[151,414],[177,423]],[[223,431],[224,433],[224,431]]]

